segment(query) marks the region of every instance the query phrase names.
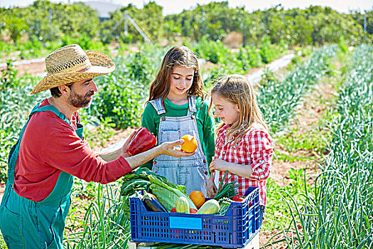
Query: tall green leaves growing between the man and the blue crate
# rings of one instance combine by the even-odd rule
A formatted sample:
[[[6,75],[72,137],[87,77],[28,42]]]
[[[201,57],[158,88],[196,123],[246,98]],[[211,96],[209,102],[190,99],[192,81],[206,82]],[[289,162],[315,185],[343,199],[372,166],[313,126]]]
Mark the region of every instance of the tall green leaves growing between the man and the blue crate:
[[[119,196],[120,185],[120,181],[97,184],[96,198],[87,202],[80,215],[82,226],[67,235],[65,243],[70,248],[126,248],[131,233],[123,215],[125,198]]]

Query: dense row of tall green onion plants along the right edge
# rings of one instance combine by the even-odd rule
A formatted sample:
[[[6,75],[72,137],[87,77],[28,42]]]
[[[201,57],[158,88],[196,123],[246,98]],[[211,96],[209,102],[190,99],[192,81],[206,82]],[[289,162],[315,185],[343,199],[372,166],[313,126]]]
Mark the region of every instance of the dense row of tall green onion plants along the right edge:
[[[372,51],[371,45],[359,46],[350,59],[350,73],[333,108],[330,154],[320,166],[315,194],[305,194],[303,203],[291,200],[298,248],[373,246]]]

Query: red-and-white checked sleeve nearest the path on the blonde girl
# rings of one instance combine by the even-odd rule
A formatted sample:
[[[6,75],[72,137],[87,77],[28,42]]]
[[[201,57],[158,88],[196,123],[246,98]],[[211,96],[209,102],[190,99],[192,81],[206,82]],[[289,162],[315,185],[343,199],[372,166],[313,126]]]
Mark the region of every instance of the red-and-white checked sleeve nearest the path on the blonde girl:
[[[273,157],[273,146],[269,134],[257,129],[245,136],[245,139],[247,139],[252,170],[254,171],[250,179],[257,181],[268,179]]]

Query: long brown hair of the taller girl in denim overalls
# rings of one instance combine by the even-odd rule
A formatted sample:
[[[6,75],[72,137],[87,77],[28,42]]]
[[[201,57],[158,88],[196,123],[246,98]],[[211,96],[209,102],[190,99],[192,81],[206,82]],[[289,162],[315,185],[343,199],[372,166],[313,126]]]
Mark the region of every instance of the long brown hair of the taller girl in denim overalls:
[[[162,104],[164,106],[164,100],[167,97],[168,92],[170,92],[170,76],[175,65],[193,68],[193,83],[188,90],[188,94],[201,97],[203,102],[205,94],[202,90],[203,82],[200,75],[197,56],[193,51],[185,46],[174,46],[167,51],[166,55],[163,57],[161,68],[158,70],[156,79],[153,80],[149,87],[148,101],[162,97]]]

